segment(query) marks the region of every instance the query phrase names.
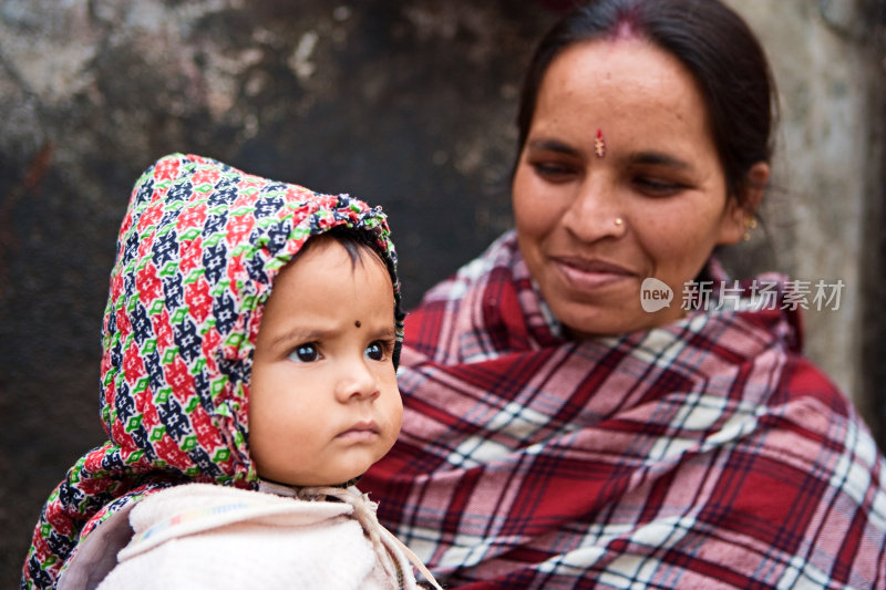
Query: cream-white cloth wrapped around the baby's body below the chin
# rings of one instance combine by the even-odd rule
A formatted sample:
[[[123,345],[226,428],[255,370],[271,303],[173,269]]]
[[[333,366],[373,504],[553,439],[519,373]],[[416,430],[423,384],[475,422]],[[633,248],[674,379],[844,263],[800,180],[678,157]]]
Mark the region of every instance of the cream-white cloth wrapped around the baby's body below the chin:
[[[344,501],[278,495],[287,490],[188,484],[148,496],[130,513],[135,535],[99,589],[416,588],[390,532],[378,527],[381,545],[368,537],[374,505],[356,488],[340,490]],[[365,510],[369,525],[356,514]]]

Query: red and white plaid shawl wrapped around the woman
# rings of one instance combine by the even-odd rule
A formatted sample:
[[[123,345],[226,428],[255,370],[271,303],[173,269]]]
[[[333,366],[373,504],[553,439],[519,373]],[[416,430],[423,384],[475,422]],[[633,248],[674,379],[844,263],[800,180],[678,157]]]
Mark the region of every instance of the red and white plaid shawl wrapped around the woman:
[[[408,318],[361,487],[450,588],[884,588],[886,463],[795,320],[570,341],[507,234]]]

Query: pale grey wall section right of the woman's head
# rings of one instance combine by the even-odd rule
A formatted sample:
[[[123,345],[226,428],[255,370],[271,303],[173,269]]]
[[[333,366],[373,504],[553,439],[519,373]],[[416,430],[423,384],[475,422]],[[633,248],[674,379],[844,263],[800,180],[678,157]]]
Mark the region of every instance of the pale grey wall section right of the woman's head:
[[[838,309],[807,311],[806,353],[869,423],[879,423],[874,397],[882,401],[883,390],[865,375],[884,361],[868,332],[883,335],[876,324],[884,323],[869,306],[883,301],[886,278],[876,246],[884,236],[886,4],[728,1],[763,39],[782,99],[773,190],[763,209],[767,235],[758,235],[751,250],[765,249],[766,263],[795,279],[843,281]]]

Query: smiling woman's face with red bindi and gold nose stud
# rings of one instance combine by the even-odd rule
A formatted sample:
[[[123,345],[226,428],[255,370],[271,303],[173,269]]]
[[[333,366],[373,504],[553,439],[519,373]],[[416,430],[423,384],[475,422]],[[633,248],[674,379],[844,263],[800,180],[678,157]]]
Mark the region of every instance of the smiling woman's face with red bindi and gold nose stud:
[[[638,39],[587,41],[554,60],[513,200],[529,271],[578,337],[678,319],[683,283],[744,232],[692,76]],[[643,311],[649,277],[671,288],[670,307]]]

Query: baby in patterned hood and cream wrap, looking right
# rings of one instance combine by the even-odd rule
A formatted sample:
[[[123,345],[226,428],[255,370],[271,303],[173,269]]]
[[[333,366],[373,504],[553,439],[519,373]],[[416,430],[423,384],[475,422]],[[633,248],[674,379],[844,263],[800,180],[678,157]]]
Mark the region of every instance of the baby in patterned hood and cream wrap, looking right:
[[[403,313],[379,208],[175,154],[136,183],[102,417],[22,588],[416,588],[353,483],[393,445]]]

